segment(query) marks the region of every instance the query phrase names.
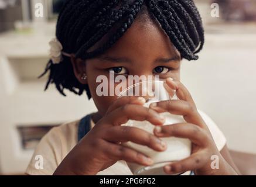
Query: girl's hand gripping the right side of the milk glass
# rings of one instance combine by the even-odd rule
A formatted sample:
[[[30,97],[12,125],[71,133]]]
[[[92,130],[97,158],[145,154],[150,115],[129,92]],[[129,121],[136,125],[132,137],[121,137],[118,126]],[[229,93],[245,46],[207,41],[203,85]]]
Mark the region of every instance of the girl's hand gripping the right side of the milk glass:
[[[221,156],[189,91],[182,83],[171,78],[166,80],[166,84],[169,88],[176,90],[179,100],[152,103],[149,108],[159,113],[170,112],[175,115],[182,115],[186,123],[157,126],[154,129],[154,134],[158,137],[189,138],[192,141],[192,155],[184,160],[166,165],[164,171],[167,174],[193,170],[196,175],[237,175],[235,170]],[[217,155],[219,158],[219,169],[211,168],[212,155]]]

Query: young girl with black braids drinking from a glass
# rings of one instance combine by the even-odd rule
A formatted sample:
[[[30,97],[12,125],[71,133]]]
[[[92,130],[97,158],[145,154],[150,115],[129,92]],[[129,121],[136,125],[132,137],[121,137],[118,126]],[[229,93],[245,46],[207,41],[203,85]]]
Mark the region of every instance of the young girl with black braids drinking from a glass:
[[[56,37],[50,42],[46,89],[54,83],[62,95],[64,89],[77,95],[86,91],[98,112],[50,130],[37,146],[27,174],[131,175],[126,161],[141,165],[153,161],[120,143],[132,141],[165,151],[166,144],[159,137],[170,136],[189,138],[192,154],[163,167],[167,174],[238,174],[225,137],[197,110],[179,81],[182,58],[197,60],[196,53],[204,44],[202,20],[192,0],[69,0],[60,12]],[[98,96],[96,79],[109,77],[110,71],[125,77],[159,75],[176,90],[179,100],[145,108],[141,97]],[[183,115],[186,122],[162,126],[165,119],[159,113],[164,111]],[[129,119],[148,120],[156,126],[154,134],[121,126]],[[36,155],[42,155],[41,169],[35,167]],[[212,155],[219,158],[219,169],[211,167]]]

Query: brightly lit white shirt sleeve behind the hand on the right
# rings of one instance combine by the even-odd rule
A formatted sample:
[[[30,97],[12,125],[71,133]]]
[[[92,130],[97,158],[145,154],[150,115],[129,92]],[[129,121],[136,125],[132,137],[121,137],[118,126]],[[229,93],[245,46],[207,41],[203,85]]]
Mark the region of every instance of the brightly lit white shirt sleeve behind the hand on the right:
[[[213,136],[213,140],[218,150],[221,151],[227,143],[226,137],[224,136],[222,131],[219,129],[217,124],[214,123],[214,121],[208,115],[206,115],[206,113],[202,112],[201,110],[198,110],[198,111],[202,116],[204,122],[206,122],[206,125],[210,130],[211,136]]]

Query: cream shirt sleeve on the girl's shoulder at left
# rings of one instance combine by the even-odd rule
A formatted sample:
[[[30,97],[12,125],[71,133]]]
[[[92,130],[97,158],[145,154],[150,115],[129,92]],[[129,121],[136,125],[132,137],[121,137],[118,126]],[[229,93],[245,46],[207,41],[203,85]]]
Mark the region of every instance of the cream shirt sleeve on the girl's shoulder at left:
[[[61,159],[61,142],[57,128],[53,127],[37,145],[26,174],[52,175],[54,173]]]

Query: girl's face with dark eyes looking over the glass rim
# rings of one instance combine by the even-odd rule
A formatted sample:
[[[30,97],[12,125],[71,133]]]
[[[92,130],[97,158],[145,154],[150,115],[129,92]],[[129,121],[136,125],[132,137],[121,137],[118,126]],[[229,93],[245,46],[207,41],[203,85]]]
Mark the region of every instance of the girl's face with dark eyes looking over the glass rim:
[[[117,99],[117,96],[98,96],[96,88],[99,84],[96,79],[99,75],[108,77],[110,71],[115,75],[159,75],[161,79],[172,77],[180,78],[180,54],[170,42],[169,37],[158,23],[146,21],[143,25],[134,22],[130,29],[121,37],[111,49],[97,58],[78,64],[75,71],[81,82],[81,74],[86,72],[86,82],[91,96],[97,106],[98,113],[103,116],[108,107]],[[81,64],[81,65],[79,65]],[[114,84],[116,86],[117,84]]]

